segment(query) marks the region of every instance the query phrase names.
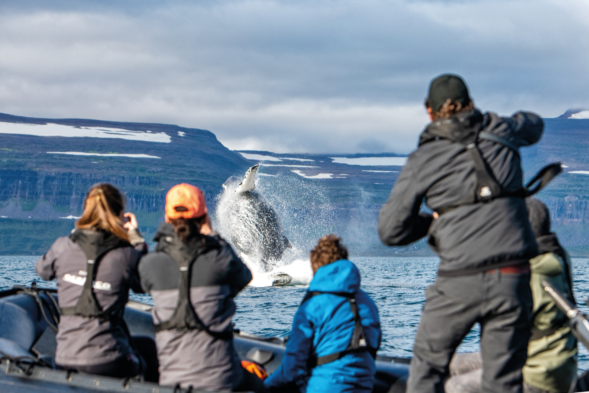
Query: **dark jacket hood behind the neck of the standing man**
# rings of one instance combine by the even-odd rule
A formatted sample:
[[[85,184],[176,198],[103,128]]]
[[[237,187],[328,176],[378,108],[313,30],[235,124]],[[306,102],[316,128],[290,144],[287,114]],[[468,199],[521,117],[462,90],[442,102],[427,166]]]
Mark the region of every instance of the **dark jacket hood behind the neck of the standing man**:
[[[419,146],[436,137],[458,142],[467,140],[477,132],[482,121],[483,115],[478,109],[436,119],[423,130],[419,137]]]

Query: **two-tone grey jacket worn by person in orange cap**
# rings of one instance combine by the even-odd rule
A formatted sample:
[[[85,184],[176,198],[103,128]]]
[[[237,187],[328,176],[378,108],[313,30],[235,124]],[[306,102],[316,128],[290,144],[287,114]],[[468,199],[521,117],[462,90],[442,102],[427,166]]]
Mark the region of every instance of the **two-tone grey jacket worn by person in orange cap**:
[[[180,269],[168,253],[181,255],[186,245],[166,223],[160,225],[154,240],[157,248],[143,257],[139,274],[143,289],[154,300],[151,315],[158,325],[171,319],[178,302]],[[232,333],[233,298],[252,280],[252,273],[218,235],[203,240],[206,249],[199,252],[192,269],[191,304],[211,332]],[[155,345],[162,385],[233,389],[243,377],[233,339],[214,338],[206,331],[169,329],[155,333]]]

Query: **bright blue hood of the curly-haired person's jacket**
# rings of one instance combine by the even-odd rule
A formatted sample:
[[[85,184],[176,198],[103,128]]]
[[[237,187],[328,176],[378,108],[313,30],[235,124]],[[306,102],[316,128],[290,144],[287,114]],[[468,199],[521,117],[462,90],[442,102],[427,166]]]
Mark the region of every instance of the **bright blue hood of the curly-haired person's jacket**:
[[[354,293],[360,289],[360,272],[358,267],[348,259],[336,260],[329,265],[319,267],[309,290],[319,292]]]

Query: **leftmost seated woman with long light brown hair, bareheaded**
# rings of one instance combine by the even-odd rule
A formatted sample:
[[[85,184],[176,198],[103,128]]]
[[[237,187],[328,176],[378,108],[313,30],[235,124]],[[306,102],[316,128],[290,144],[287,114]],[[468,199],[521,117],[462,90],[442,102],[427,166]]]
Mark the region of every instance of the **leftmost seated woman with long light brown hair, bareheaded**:
[[[124,208],[114,186],[92,186],[75,229],[55,240],[37,260],[35,272],[44,280],[57,278],[57,365],[116,378],[143,374],[157,381],[153,340],[131,338],[123,320],[129,289],[142,292],[137,265],[147,253],[135,215],[123,214]]]

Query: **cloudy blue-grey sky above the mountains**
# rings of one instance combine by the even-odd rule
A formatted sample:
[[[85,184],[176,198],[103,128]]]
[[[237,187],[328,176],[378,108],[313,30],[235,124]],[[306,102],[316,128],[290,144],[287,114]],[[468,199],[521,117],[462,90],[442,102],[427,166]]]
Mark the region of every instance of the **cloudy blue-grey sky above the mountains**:
[[[483,111],[589,108],[587,37],[585,0],[2,0],[0,112],[409,153],[442,73]]]

